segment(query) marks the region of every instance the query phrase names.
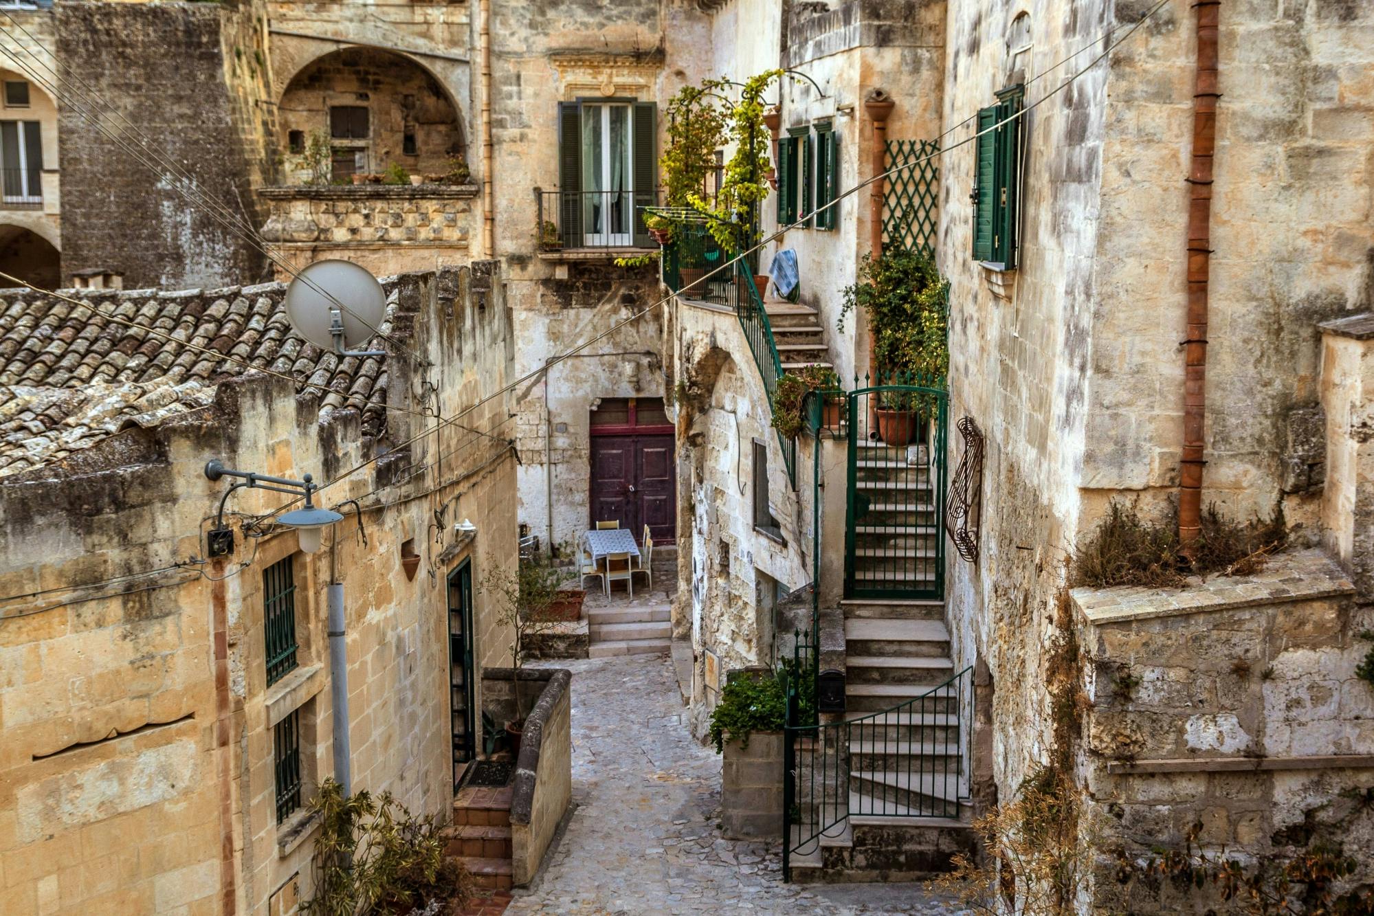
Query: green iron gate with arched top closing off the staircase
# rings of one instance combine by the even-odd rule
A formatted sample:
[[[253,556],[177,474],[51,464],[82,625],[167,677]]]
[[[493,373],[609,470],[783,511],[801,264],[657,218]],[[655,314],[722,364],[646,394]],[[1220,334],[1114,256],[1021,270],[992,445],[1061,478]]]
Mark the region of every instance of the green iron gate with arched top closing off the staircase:
[[[949,396],[919,385],[851,391],[845,597],[944,597]]]

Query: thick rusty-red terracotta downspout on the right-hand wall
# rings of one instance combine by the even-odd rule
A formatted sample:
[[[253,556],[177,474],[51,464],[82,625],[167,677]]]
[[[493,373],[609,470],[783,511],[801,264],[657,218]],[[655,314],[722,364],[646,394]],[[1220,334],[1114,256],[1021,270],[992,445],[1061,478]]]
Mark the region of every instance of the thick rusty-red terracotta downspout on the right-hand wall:
[[[1183,460],[1179,541],[1191,555],[1202,527],[1202,430],[1206,420],[1208,275],[1212,257],[1212,152],[1216,146],[1217,22],[1220,0],[1200,0],[1193,91],[1193,166],[1189,170],[1189,334],[1183,341]]]

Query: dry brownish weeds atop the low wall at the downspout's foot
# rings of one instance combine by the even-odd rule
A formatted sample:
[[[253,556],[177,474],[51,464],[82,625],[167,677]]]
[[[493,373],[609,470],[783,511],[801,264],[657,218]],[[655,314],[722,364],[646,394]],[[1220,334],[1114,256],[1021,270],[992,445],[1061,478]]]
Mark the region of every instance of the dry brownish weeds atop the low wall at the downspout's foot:
[[[1212,504],[1202,514],[1202,533],[1190,560],[1179,542],[1176,508],[1161,522],[1145,522],[1134,508],[1113,501],[1102,523],[1074,548],[1069,585],[1179,588],[1189,575],[1248,575],[1285,544],[1282,508],[1268,519],[1241,523]]]

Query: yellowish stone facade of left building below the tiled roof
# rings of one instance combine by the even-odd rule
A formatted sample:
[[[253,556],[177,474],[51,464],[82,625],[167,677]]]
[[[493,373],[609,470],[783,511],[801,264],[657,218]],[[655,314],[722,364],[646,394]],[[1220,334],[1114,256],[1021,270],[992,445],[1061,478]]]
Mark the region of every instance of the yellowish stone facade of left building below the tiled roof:
[[[392,287],[404,306],[396,334],[434,363],[445,416],[499,387],[514,353],[500,301],[480,305],[469,287],[467,272]],[[420,369],[390,358],[389,400],[414,404]],[[496,398],[470,419],[491,424],[504,409]],[[408,420],[397,420],[404,441]],[[363,530],[342,508],[315,555],[298,553],[290,530],[246,537],[240,522],[287,497],[239,490],[227,507],[235,552],[194,559],[228,485],[205,479],[209,457],[330,481],[370,457],[363,448],[354,411],[320,422],[317,398],[290,383],[238,379],[209,408],[4,478],[0,592],[18,597],[0,603],[0,856],[18,912],[265,913],[297,872],[309,897],[313,824],[301,813],[276,823],[271,725],[301,710],[308,801],[333,772],[324,588],[335,577],[353,788],[447,813],[445,577],[466,556],[478,575],[515,563],[508,445],[449,428],[345,477],[317,500],[357,499]],[[453,531],[459,512],[475,536]],[[414,580],[407,541],[423,562]],[[293,555],[298,667],[267,687],[262,570]],[[475,597],[477,661],[491,665],[508,640]]]

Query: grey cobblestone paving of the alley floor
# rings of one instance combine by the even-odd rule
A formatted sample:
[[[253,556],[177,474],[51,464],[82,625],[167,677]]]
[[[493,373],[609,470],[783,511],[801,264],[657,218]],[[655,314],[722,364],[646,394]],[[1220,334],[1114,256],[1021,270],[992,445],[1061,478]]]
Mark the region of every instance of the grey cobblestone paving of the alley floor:
[[[720,835],[720,757],[697,744],[661,655],[545,662],[573,672],[566,834],[508,913],[951,913],[918,884],[798,886],[780,849]]]

